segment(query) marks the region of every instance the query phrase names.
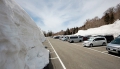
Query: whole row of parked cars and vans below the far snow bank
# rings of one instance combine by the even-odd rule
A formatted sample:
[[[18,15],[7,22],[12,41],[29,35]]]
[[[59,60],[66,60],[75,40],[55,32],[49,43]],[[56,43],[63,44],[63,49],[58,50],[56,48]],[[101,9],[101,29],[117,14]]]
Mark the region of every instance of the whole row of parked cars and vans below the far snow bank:
[[[106,50],[111,53],[120,54],[120,36],[114,39],[113,35],[59,35],[54,36],[54,39],[68,41],[69,43],[83,42],[84,47],[106,46]]]

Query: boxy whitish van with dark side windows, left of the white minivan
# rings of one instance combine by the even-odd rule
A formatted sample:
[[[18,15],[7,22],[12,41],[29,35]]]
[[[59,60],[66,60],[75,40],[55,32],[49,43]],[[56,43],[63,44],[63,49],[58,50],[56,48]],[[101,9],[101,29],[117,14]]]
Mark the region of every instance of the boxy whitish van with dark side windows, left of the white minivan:
[[[77,36],[77,35],[71,35],[67,37],[68,42],[74,43],[74,42],[82,42],[83,37],[82,36]]]

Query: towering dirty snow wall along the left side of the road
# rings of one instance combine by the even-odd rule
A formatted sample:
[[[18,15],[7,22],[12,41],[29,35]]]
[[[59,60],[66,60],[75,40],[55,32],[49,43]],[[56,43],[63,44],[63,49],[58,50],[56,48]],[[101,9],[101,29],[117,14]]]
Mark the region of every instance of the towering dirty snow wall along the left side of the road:
[[[0,0],[0,69],[42,69],[49,52],[42,31],[13,0]]]

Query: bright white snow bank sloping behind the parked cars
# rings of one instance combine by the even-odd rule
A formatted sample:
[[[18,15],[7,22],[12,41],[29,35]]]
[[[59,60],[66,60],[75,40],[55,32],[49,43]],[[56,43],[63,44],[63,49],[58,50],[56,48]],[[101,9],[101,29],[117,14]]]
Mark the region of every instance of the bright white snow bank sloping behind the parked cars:
[[[120,20],[113,24],[104,25],[98,28],[91,28],[88,30],[79,30],[75,35],[107,35],[112,34],[114,37],[120,35]]]

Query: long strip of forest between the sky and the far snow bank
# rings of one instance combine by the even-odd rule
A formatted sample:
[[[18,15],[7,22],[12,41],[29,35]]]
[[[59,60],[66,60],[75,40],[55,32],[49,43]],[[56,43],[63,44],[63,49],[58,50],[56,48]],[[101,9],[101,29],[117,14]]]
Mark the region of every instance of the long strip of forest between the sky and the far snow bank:
[[[71,35],[77,33],[79,30],[87,30],[89,28],[96,28],[102,25],[108,25],[114,23],[117,19],[120,20],[120,3],[116,7],[108,8],[104,13],[104,15],[99,18],[98,16],[92,19],[86,19],[83,26],[67,28],[65,31],[61,30],[57,33],[53,33],[52,31],[43,32],[46,37],[54,36],[54,35]]]

